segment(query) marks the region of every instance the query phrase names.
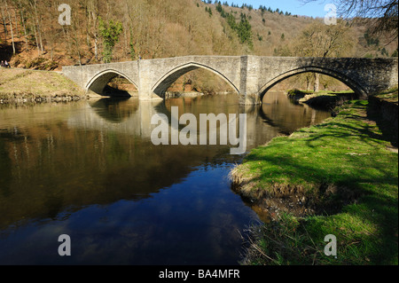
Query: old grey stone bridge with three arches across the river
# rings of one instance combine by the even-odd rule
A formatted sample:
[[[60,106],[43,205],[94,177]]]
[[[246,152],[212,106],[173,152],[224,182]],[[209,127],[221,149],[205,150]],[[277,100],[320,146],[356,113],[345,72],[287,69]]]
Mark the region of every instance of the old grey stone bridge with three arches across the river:
[[[367,97],[397,85],[398,59],[304,58],[260,56],[184,56],[167,59],[63,67],[84,90],[102,94],[116,75],[133,83],[143,100],[164,98],[178,77],[197,68],[219,75],[239,94],[239,103],[255,105],[275,84],[301,73],[330,75]]]

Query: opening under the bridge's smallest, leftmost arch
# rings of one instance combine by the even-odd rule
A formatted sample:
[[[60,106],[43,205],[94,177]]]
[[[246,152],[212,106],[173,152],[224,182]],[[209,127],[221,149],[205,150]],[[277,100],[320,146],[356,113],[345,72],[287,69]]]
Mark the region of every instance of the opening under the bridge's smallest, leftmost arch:
[[[106,70],[95,75],[86,86],[87,90],[107,97],[131,97],[137,95],[137,84],[116,70]]]

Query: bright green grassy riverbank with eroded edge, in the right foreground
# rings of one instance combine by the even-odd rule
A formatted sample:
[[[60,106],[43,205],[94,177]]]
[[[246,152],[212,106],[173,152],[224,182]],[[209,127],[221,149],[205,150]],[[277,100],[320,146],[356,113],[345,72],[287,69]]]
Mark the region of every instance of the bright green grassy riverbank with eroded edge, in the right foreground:
[[[350,101],[232,170],[235,189],[272,219],[249,229],[244,264],[398,263],[398,154],[367,106]],[[324,253],[327,234],[336,258]]]

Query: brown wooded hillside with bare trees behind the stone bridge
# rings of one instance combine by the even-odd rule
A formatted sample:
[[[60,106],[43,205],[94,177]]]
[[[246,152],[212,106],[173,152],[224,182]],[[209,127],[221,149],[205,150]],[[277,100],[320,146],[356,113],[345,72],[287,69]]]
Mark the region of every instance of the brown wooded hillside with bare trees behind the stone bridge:
[[[70,25],[59,24],[60,4],[71,7]],[[0,7],[0,58],[48,70],[193,54],[316,56],[300,52],[311,42],[304,31],[325,26],[266,6],[200,0],[0,0]],[[397,41],[348,22],[340,27],[333,32],[350,44],[329,56],[397,56]]]

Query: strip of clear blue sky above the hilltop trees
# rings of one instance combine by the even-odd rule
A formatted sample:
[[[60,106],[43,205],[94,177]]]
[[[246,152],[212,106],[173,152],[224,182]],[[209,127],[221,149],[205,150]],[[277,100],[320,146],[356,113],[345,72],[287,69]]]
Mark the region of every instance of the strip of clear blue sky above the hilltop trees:
[[[223,3],[225,0],[221,0]],[[213,1],[214,2],[214,1]],[[260,5],[266,6],[276,10],[277,8],[283,12],[291,12],[293,15],[309,16],[324,18],[328,11],[325,11],[325,4],[332,3],[330,0],[317,0],[304,4],[304,0],[227,0],[227,3],[231,4],[251,4],[254,9],[258,9]]]

